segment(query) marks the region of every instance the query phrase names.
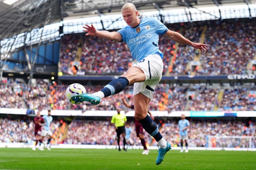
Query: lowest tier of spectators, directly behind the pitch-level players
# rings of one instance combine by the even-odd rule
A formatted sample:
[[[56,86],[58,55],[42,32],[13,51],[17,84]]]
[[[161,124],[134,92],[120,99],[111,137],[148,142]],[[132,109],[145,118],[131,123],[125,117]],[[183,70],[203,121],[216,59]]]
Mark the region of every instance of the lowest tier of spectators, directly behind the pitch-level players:
[[[162,122],[162,123],[161,123]],[[158,127],[167,141],[170,141],[173,147],[180,146],[178,121],[167,120],[158,121]],[[31,144],[34,140],[34,127],[32,119],[0,119],[0,142],[1,143],[17,143],[23,142]],[[140,139],[136,137],[135,125],[133,121],[129,121],[132,127],[130,142],[134,146],[140,146]],[[51,127],[52,131],[60,126],[60,122],[54,120]],[[189,129],[189,146],[190,147],[212,147],[211,142],[208,141],[208,135],[212,136],[252,136],[252,147],[256,147],[256,124],[252,121],[247,125],[242,121],[200,121],[190,120]],[[148,145],[156,146],[157,143],[151,139],[149,135],[146,136]],[[68,126],[66,138],[60,141],[65,144],[88,144],[88,145],[117,145],[116,133],[114,125],[110,121],[81,121],[74,120]],[[244,141],[230,140],[216,141],[215,147],[248,147],[248,143]]]

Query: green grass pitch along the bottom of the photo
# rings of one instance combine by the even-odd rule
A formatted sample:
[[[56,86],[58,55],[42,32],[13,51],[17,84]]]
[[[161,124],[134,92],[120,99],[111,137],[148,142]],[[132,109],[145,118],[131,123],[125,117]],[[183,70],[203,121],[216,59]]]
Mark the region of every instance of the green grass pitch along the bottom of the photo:
[[[142,155],[142,150],[118,152],[117,149],[0,148],[0,169],[12,170],[252,170],[256,169],[256,152],[170,150],[156,165],[157,150]]]

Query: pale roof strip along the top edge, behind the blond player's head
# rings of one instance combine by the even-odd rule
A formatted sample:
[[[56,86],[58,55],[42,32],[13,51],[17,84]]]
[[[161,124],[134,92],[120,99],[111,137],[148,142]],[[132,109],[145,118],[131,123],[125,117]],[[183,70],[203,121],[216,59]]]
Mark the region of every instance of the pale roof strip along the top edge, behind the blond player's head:
[[[246,2],[247,1],[247,2]],[[222,4],[250,4],[250,0],[64,0],[63,16],[118,12],[126,2],[135,4],[137,10],[164,10],[193,6],[219,6]]]

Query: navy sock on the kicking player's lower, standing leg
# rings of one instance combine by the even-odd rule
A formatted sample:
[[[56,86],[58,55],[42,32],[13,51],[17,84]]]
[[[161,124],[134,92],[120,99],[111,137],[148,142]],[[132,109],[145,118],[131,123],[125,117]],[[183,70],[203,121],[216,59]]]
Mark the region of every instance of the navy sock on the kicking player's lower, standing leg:
[[[139,121],[142,127],[145,129],[150,136],[154,137],[154,139],[158,142],[162,139],[162,135],[158,130],[156,123],[147,115],[144,119]]]

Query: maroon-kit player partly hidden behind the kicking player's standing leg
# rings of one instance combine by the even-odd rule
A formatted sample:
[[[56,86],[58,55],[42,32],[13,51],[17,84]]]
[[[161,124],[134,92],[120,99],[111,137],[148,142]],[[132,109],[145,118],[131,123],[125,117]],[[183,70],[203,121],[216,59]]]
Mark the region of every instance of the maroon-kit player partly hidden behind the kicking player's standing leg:
[[[124,105],[126,107],[134,109],[134,105],[128,104],[124,98],[122,98],[122,101],[123,101],[123,103],[124,103]],[[151,119],[154,120],[154,116],[150,113],[149,110],[148,110],[148,114],[150,115]],[[134,123],[135,123],[136,135],[137,135],[138,138],[140,138],[141,144],[142,144],[142,146],[144,148],[142,154],[148,154],[149,150],[148,150],[148,148],[146,146],[146,141],[144,139],[144,129],[143,129],[141,123],[137,119],[134,119]]]

